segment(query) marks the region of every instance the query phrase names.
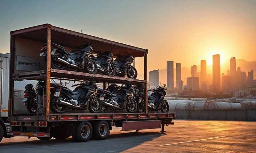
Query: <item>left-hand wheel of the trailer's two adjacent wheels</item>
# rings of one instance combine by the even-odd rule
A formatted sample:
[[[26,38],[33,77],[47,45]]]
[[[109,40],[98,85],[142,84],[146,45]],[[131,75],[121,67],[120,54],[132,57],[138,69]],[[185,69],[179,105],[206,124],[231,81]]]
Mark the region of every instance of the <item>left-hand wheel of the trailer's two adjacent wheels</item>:
[[[72,135],[77,142],[86,142],[92,138],[92,125],[90,122],[83,121],[76,126],[75,134]]]

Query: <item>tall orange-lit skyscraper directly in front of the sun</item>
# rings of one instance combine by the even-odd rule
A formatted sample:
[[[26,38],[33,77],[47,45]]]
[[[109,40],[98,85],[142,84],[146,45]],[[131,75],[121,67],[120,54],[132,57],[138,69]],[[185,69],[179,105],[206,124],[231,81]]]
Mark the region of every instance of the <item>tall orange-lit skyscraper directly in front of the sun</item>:
[[[212,92],[220,91],[220,55],[212,56]]]

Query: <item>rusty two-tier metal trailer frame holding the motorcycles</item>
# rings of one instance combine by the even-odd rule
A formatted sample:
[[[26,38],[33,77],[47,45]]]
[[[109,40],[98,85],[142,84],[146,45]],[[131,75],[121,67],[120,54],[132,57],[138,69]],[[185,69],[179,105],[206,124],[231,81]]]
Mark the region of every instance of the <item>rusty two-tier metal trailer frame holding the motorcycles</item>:
[[[78,33],[75,31],[63,29],[50,24],[33,26],[21,30],[11,31],[11,64],[10,64],[10,84],[9,84],[9,118],[10,121],[19,122],[60,122],[60,121],[81,121],[81,120],[161,120],[162,132],[164,132],[164,124],[173,124],[171,121],[175,118],[175,113],[148,113],[148,96],[147,96],[147,55],[148,49],[133,47],[123,43],[118,43],[111,40],[102,39],[99,37]],[[46,70],[30,71],[14,73],[15,69],[15,38],[25,38],[47,43],[47,62]],[[52,114],[50,112],[50,80],[51,78],[65,78],[72,80],[85,80],[92,77],[91,74],[58,70],[51,68],[51,42],[52,40],[63,46],[79,46],[84,40],[92,40],[92,48],[94,51],[103,51],[107,48],[112,48],[113,55],[129,52],[133,57],[144,57],[144,80],[130,79],[125,77],[109,77],[107,75],[95,74],[95,81],[103,82],[103,88],[106,88],[106,83],[123,83],[125,81],[132,81],[134,83],[142,83],[145,87],[145,113],[64,113]],[[95,46],[94,46],[95,44]],[[25,53],[24,53],[25,54]],[[38,53],[39,54],[39,53]],[[35,115],[13,115],[13,85],[14,80],[30,79],[30,80],[46,80],[46,106],[45,114],[41,116]],[[44,111],[43,111],[44,112]],[[12,135],[15,135],[13,133]],[[20,133],[16,135],[23,136]],[[42,134],[44,135],[44,133]],[[30,135],[33,136],[33,135]]]

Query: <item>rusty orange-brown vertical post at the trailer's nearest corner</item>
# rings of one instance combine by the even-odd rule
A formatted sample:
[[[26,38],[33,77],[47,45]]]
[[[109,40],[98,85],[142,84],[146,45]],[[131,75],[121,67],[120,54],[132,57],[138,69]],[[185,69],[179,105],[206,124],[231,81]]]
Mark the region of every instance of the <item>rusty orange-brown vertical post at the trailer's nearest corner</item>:
[[[48,120],[48,115],[50,114],[50,77],[51,77],[51,40],[52,39],[52,27],[47,25],[47,55],[46,55],[46,119]]]

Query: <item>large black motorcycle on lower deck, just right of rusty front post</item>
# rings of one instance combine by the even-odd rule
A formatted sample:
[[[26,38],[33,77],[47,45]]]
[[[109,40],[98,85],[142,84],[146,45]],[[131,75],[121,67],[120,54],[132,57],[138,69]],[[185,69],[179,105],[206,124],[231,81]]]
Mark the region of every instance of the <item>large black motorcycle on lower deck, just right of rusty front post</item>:
[[[72,85],[72,91],[60,84],[51,83],[50,108],[53,113],[65,113],[68,109],[87,110],[91,113],[100,113],[102,103],[96,97],[97,84],[93,81],[81,82]]]

